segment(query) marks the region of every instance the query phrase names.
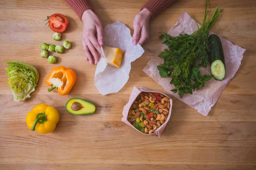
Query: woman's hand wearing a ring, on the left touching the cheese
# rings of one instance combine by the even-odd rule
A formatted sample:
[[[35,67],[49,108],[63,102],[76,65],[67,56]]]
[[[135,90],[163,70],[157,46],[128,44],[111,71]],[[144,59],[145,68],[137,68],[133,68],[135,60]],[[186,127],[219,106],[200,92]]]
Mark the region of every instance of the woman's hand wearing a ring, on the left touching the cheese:
[[[104,43],[102,22],[91,9],[85,10],[81,19],[84,22],[82,42],[85,58],[92,64],[94,57],[94,63],[97,64],[99,62],[97,51],[103,57],[101,51],[101,45]]]

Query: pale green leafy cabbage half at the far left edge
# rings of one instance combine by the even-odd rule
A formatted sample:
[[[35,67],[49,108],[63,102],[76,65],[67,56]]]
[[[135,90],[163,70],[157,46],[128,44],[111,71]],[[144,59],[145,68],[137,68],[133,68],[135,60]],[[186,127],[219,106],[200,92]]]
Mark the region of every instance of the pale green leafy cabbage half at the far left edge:
[[[39,79],[37,69],[21,61],[6,62],[6,64],[9,65],[6,71],[14,101],[21,102],[31,97],[30,94],[35,91]]]

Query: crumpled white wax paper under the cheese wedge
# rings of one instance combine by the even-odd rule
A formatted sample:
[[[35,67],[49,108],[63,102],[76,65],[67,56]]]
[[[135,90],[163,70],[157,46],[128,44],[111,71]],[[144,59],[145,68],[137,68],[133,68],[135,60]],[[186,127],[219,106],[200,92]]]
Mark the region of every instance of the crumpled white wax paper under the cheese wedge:
[[[120,48],[124,56],[120,68],[108,65],[104,54],[104,58],[100,58],[95,71],[94,84],[102,95],[121,90],[129,79],[131,62],[144,53],[139,44],[132,44],[130,29],[119,21],[104,28],[104,45]]]

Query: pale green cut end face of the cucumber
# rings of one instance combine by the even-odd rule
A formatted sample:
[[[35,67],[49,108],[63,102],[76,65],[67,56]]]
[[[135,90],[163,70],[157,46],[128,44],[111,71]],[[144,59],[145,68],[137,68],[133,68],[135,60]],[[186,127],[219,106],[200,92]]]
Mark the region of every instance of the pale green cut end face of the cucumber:
[[[223,80],[226,75],[225,65],[220,59],[211,64],[211,73],[216,80]]]

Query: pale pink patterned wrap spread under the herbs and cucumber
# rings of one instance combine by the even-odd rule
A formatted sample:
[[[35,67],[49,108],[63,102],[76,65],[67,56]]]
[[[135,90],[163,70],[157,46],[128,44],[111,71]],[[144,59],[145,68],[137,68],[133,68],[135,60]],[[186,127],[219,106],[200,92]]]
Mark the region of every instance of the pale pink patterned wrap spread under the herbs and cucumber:
[[[201,27],[201,25],[199,25]],[[177,37],[179,34],[192,34],[197,30],[197,25],[195,20],[193,20],[189,14],[185,11],[178,18],[177,23],[169,30],[168,34]],[[209,34],[214,34],[209,32]],[[218,98],[221,96],[222,91],[226,88],[227,84],[236,74],[236,71],[241,65],[241,60],[243,59],[243,54],[245,49],[237,45],[233,45],[232,42],[219,37],[221,39],[222,47],[224,50],[225,56],[225,65],[226,65],[226,77],[222,81],[215,80],[212,78],[209,82],[205,82],[205,87],[196,90],[193,94],[184,94],[181,99],[177,93],[172,92],[174,85],[170,84],[171,78],[161,78],[159,71],[157,70],[157,65],[163,63],[164,59],[158,57],[161,51],[167,48],[167,45],[160,44],[156,53],[145,66],[143,71],[157,82],[158,85],[161,85],[169,94],[172,94],[180,101],[186,103],[190,107],[196,109],[199,113],[204,116],[207,116],[212,106],[215,105]],[[200,68],[201,73],[211,74],[209,63],[207,68]]]

